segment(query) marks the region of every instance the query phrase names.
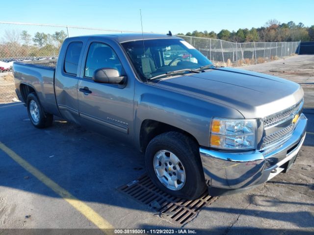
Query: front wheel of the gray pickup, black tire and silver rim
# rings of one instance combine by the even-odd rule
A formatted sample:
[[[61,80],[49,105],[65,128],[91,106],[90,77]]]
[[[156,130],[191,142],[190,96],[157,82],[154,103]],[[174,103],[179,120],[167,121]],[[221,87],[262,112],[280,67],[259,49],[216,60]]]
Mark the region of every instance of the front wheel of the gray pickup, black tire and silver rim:
[[[156,136],[146,148],[145,162],[153,183],[172,196],[193,200],[206,189],[198,144],[182,133]]]

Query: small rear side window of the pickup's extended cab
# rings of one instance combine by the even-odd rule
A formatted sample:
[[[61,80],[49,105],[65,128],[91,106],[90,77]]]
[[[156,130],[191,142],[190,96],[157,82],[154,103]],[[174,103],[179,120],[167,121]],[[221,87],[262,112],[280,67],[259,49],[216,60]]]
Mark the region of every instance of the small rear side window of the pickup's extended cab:
[[[69,44],[64,59],[65,72],[71,73],[75,76],[77,75],[78,60],[80,52],[82,50],[82,46],[83,46],[82,42],[73,42]]]

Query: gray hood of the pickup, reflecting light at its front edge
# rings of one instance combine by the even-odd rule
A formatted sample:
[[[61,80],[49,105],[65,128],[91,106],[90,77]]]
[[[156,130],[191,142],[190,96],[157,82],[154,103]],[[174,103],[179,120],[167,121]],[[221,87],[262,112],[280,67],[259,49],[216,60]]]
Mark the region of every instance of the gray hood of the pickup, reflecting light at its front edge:
[[[156,86],[227,105],[244,118],[266,117],[291,107],[303,97],[303,90],[297,83],[232,68],[168,77]]]

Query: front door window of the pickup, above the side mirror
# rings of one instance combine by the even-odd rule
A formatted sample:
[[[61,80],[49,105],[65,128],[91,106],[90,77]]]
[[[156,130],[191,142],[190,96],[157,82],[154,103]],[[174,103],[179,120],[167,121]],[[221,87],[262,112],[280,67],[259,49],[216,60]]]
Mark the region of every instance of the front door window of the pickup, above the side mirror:
[[[84,76],[93,77],[95,70],[101,68],[116,69],[124,73],[120,60],[114,50],[104,43],[92,43],[88,49]]]

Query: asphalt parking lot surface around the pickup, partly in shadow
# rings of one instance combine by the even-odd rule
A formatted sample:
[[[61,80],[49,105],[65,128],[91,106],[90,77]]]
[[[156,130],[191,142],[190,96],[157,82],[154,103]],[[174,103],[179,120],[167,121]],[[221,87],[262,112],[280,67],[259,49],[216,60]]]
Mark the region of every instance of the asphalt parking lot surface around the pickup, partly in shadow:
[[[222,235],[248,229],[254,234],[312,234],[314,55],[243,69],[301,84],[309,119],[304,145],[287,174],[250,191],[219,197],[183,228]],[[36,129],[24,105],[15,102],[0,104],[0,149],[0,234],[8,228],[97,229],[97,224],[116,229],[175,227],[116,189],[145,173],[143,154],[130,146],[59,119],[50,128]]]

